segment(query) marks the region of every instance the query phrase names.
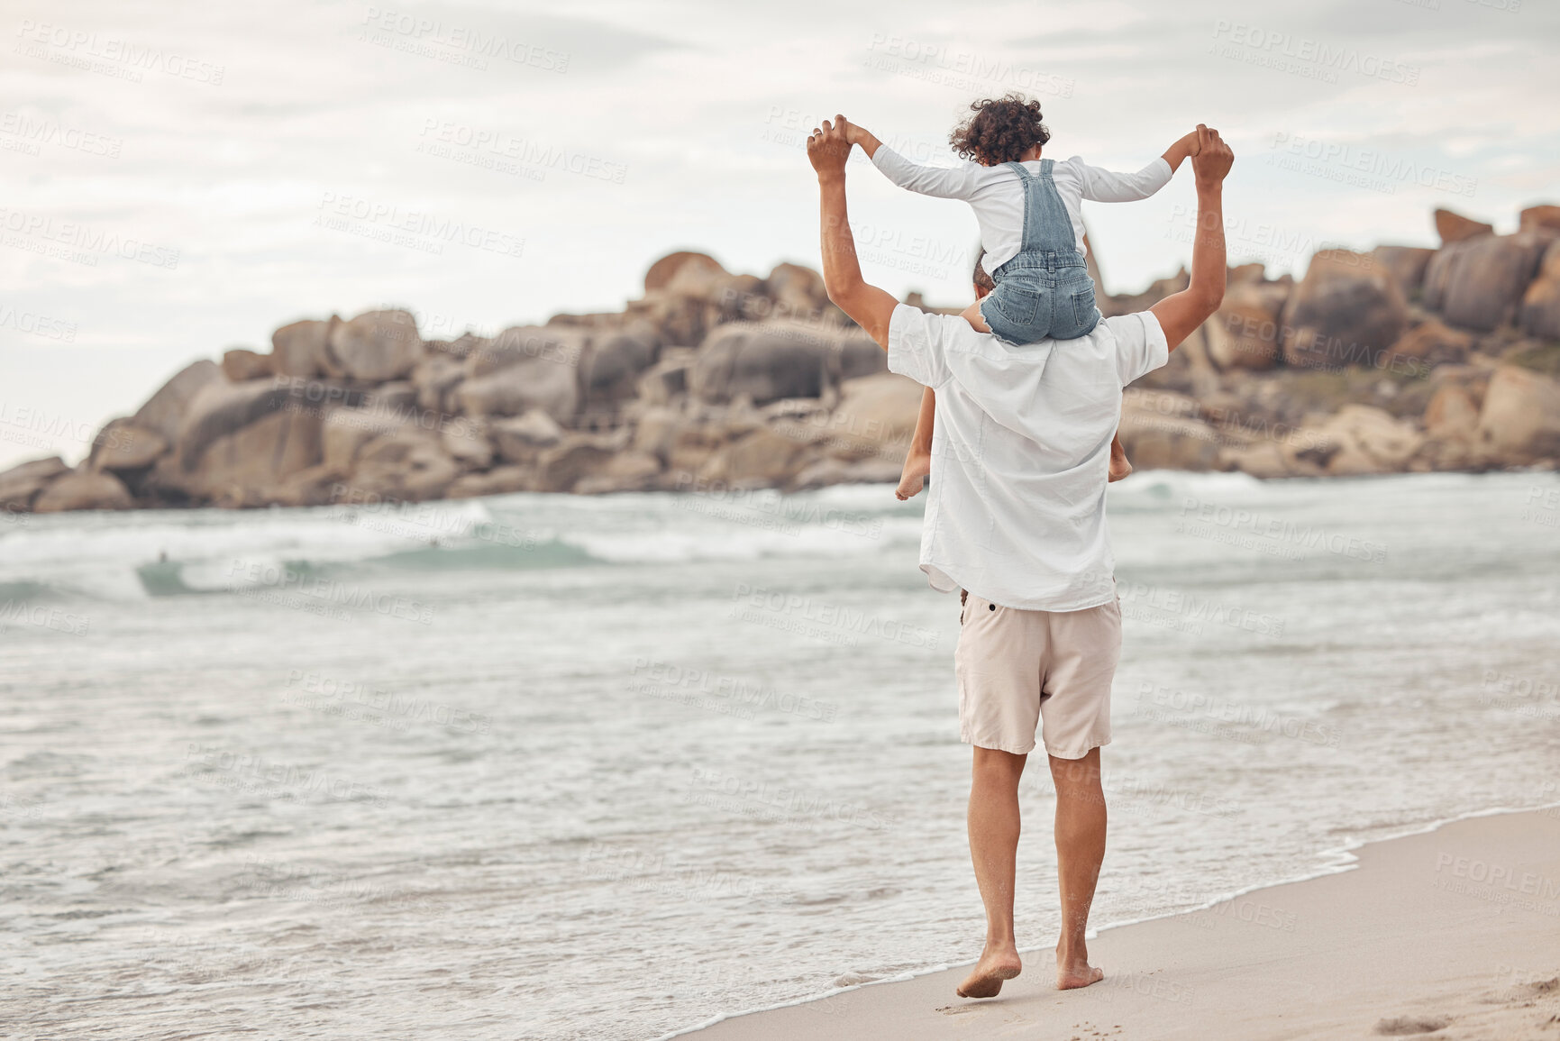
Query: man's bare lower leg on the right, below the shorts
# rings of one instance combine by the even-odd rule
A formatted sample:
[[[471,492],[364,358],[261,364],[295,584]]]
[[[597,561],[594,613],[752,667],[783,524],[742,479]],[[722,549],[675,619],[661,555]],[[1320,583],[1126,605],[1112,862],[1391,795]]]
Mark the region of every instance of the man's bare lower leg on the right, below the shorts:
[[[1083,938],[1104,862],[1104,788],[1100,785],[1100,749],[1083,759],[1051,755],[1050,760],[1056,785],[1056,874],[1062,894],[1056,988],[1065,991],[1104,979],[1104,972],[1089,965],[1089,946]]]

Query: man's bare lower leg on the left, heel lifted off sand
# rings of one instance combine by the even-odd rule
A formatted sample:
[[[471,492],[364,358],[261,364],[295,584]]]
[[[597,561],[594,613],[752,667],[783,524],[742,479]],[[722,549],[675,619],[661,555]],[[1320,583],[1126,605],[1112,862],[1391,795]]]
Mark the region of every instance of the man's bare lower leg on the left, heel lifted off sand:
[[[995,997],[1002,982],[1023,969],[1012,938],[1012,879],[1019,857],[1019,777],[1026,759],[975,746],[970,860],[975,863],[980,899],[986,905],[986,949],[975,971],[959,983],[959,997]]]

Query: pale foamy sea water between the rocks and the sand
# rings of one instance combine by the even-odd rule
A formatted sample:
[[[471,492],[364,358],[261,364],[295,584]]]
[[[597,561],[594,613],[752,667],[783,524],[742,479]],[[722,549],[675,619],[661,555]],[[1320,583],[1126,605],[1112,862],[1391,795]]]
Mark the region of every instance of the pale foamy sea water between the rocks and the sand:
[[[1560,801],[1557,503],[1115,485],[1095,924]],[[654,1038],[972,960],[919,531],[888,487],[0,517],[3,1033]]]

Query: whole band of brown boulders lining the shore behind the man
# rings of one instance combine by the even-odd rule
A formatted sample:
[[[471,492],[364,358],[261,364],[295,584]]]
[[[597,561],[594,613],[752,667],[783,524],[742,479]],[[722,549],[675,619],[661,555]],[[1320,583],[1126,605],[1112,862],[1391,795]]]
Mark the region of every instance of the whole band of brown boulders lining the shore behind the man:
[[[1560,468],[1557,214],[1530,208],[1513,236],[1441,214],[1440,250],[1324,250],[1299,282],[1231,268],[1218,314],[1123,401],[1134,465]],[[1182,270],[1100,309],[1143,311],[1186,286]],[[423,340],[393,309],[289,323],[270,354],[232,348],[178,371],[80,467],[0,473],[0,509],[889,482],[920,398],[816,272],[733,275],[675,253],[621,314],[493,337]]]

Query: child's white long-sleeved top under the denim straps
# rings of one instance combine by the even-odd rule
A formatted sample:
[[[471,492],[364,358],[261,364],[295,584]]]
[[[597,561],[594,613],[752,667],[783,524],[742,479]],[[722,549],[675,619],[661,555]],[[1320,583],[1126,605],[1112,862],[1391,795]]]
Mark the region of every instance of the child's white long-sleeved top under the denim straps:
[[[1023,186],[1019,184],[1019,175],[1006,165],[983,167],[978,162],[961,162],[956,167],[928,167],[911,162],[888,145],[878,145],[872,165],[894,184],[911,192],[961,198],[969,203],[980,223],[980,243],[986,250],[981,265],[987,275],[1019,254],[1023,240]],[[1030,173],[1041,172],[1039,159],[1025,162],[1023,167]],[[1133,203],[1162,189],[1172,175],[1173,170],[1162,156],[1137,173],[1101,170],[1084,162],[1081,156],[1055,164],[1051,181],[1072,219],[1078,256],[1084,256],[1080,200]]]

